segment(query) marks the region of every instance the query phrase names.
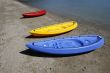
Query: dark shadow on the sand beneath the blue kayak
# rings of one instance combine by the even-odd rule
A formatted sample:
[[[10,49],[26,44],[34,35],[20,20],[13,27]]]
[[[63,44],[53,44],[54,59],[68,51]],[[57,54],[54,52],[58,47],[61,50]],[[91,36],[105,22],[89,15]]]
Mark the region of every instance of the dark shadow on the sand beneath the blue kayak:
[[[47,54],[47,53],[42,53],[42,52],[39,52],[39,51],[33,51],[31,49],[27,49],[27,50],[21,51],[20,53],[24,54],[24,55],[29,55],[29,56],[35,56],[35,57],[59,58],[59,57],[79,56],[79,55],[83,55],[83,54],[88,54],[88,53],[90,53],[92,51],[79,53],[79,54],[61,55],[61,54]]]

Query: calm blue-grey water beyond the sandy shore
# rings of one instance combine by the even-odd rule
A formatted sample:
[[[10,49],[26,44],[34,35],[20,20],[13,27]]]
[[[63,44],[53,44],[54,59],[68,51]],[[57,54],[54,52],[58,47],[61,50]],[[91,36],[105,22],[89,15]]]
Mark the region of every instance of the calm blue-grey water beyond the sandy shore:
[[[33,7],[46,9],[70,18],[110,25],[110,0],[20,0]]]

